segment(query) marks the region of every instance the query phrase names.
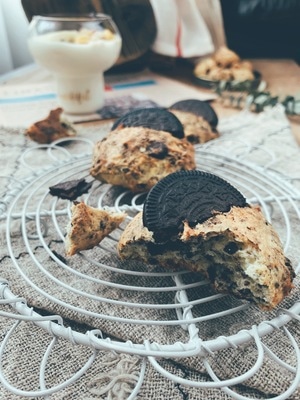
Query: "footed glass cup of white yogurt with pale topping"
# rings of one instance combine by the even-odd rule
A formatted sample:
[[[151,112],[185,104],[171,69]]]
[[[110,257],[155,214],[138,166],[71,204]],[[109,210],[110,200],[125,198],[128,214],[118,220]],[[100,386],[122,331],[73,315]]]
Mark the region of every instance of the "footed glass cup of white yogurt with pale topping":
[[[37,64],[56,81],[59,105],[88,114],[104,104],[104,71],[112,67],[122,40],[110,16],[34,16],[28,46]]]

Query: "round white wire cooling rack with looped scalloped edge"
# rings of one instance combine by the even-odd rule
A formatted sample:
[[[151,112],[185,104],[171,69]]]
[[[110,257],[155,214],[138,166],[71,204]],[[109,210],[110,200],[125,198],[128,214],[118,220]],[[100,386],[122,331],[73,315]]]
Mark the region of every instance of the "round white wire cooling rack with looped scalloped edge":
[[[81,139],[88,146],[88,140]],[[262,367],[267,354],[274,363],[289,371],[293,378],[288,389],[274,399],[287,399],[300,382],[299,343],[289,332],[291,321],[299,321],[300,301],[287,308],[279,308],[275,314],[257,313],[245,302],[230,296],[216,294],[207,281],[193,273],[164,271],[137,263],[123,263],[116,253],[116,243],[124,228],[112,233],[97,248],[82,252],[70,259],[64,256],[66,224],[70,218],[71,202],[49,194],[49,186],[68,180],[89,176],[91,154],[69,152],[68,146],[78,145],[80,139],[67,144],[64,140],[53,145],[41,146],[51,165],[38,172],[28,163],[36,149],[23,154],[21,162],[31,174],[23,180],[14,179],[9,190],[2,194],[1,220],[6,221],[6,240],[11,268],[24,283],[24,292],[36,293],[39,304],[45,302],[48,316],[42,315],[35,305],[27,304],[23,296],[12,293],[9,281],[1,279],[1,304],[10,305],[11,313],[0,309],[0,315],[17,321],[30,321],[56,338],[97,350],[113,350],[140,356],[142,367],[140,378],[129,396],[133,399],[143,381],[146,362],[164,377],[178,384],[199,388],[222,388],[235,399],[249,399],[237,393],[233,386],[245,382]],[[70,144],[71,143],[71,144]],[[234,184],[248,202],[259,204],[266,218],[277,229],[289,255],[298,246],[294,231],[300,223],[299,191],[283,176],[272,171],[274,161],[269,150],[259,149],[268,155],[269,163],[264,167],[247,161],[253,148],[243,156],[229,156],[213,151],[210,146],[196,149],[197,168],[218,174]],[[144,195],[132,195],[120,188],[93,181],[89,193],[80,197],[93,207],[114,207],[125,210],[128,219],[142,209]],[[127,219],[127,222],[128,222]],[[20,229],[18,239],[12,231]],[[26,265],[20,261],[20,253],[27,254]],[[49,261],[50,260],[50,261]],[[294,262],[299,271],[299,260]],[[40,306],[41,308],[41,306]],[[57,313],[54,311],[59,310]],[[72,315],[75,323],[93,326],[86,332],[66,326],[64,318]],[[259,317],[257,317],[259,315]],[[232,326],[238,320],[244,329],[233,332]],[[76,326],[76,324],[74,325]],[[153,329],[155,327],[155,329]],[[165,341],[164,330],[172,327],[176,340]],[[122,337],[122,332],[132,337]],[[263,338],[281,330],[293,348],[296,365],[280,359],[272,349],[263,343]],[[1,345],[0,357],[14,328],[10,330]],[[106,337],[106,335],[110,337]],[[160,341],[157,340],[157,335]],[[172,338],[172,336],[171,336]],[[220,379],[211,368],[206,356],[226,348],[254,343],[257,348],[255,364],[240,376]],[[52,345],[51,345],[52,346]],[[44,355],[46,368],[48,352]],[[175,360],[201,357],[211,378],[210,382],[188,380],[167,371],[159,362],[161,358]],[[74,383],[93,364],[93,354],[72,379],[61,385],[46,387],[43,379],[40,388],[22,391],[12,387],[0,371],[1,383],[10,391],[20,395],[39,397],[54,393]],[[43,373],[42,373],[43,375]]]

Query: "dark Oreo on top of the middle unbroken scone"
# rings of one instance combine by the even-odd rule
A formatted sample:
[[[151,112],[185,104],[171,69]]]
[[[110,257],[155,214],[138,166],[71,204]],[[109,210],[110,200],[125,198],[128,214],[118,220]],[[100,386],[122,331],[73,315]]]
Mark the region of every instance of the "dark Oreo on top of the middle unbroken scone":
[[[170,111],[158,107],[130,111],[117,119],[111,130],[136,126],[169,132],[178,139],[184,138],[183,126],[179,119]]]

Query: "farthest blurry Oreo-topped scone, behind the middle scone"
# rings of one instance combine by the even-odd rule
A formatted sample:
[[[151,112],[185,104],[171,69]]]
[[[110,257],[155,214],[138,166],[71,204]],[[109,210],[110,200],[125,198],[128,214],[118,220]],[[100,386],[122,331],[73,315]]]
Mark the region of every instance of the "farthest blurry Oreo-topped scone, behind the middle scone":
[[[169,107],[182,123],[184,135],[192,144],[206,143],[220,136],[217,131],[218,116],[206,101],[182,100]]]

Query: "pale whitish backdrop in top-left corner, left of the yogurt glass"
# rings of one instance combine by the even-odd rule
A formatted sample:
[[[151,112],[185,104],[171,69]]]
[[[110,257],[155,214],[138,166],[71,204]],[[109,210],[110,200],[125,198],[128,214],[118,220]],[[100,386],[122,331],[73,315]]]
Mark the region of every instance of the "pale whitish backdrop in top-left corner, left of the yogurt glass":
[[[0,0],[0,74],[33,62],[21,0]]]

